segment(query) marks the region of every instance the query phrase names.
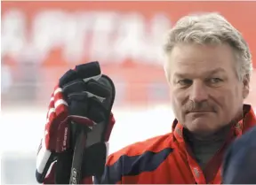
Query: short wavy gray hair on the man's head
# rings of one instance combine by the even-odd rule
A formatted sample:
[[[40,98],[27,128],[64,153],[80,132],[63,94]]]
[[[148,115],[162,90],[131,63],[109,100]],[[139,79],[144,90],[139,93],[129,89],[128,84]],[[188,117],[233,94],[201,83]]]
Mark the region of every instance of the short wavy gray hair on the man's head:
[[[241,33],[219,13],[188,15],[179,19],[164,39],[164,53],[167,55],[180,42],[199,44],[228,43],[236,57],[236,74],[239,80],[252,74],[252,56],[248,44]],[[164,64],[165,75],[169,81],[169,65]]]

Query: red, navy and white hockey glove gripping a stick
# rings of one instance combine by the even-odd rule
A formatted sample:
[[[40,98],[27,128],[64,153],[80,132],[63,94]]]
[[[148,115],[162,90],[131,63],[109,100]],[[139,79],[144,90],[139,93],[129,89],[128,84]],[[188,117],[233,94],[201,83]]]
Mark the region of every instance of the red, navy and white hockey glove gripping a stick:
[[[108,76],[100,73],[98,62],[76,66],[60,78],[51,96],[44,137],[36,158],[38,182],[44,182],[48,168],[56,160],[55,181],[68,181],[81,129],[88,132],[82,177],[103,173],[107,156],[105,143],[115,123],[111,113],[114,99],[115,86]]]

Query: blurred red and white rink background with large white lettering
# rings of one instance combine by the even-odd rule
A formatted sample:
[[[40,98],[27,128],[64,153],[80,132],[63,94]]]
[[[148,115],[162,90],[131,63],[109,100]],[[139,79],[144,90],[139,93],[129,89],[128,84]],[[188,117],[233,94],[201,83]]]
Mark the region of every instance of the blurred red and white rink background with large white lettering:
[[[181,16],[220,12],[256,56],[256,2],[1,3],[2,184],[36,183],[36,150],[50,95],[69,68],[98,60],[115,81],[112,153],[171,131],[161,43]],[[256,108],[255,72],[246,101]]]

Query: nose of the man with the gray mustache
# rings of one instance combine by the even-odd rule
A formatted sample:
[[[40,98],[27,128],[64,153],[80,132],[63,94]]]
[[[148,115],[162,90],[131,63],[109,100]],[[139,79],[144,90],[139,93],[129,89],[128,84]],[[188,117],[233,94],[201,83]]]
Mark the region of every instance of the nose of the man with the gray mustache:
[[[204,102],[208,99],[208,92],[203,81],[193,81],[190,91],[190,100]]]

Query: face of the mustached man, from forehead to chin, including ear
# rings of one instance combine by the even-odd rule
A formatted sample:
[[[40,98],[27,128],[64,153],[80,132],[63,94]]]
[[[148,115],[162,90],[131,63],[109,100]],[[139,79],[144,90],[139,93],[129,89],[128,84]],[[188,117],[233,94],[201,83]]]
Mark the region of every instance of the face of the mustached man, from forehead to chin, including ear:
[[[248,81],[238,80],[228,44],[180,44],[168,60],[172,108],[190,132],[213,134],[242,116]]]

